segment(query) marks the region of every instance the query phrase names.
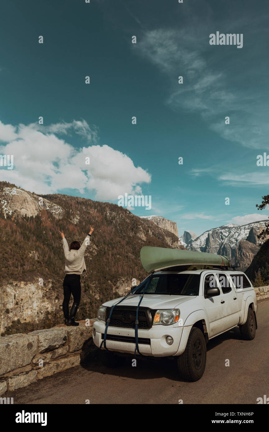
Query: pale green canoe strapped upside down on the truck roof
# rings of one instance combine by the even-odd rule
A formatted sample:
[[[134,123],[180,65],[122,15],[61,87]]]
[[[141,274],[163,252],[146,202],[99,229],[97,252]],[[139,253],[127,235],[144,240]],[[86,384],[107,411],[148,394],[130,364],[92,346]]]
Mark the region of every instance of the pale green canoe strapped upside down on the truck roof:
[[[183,249],[154,248],[144,246],[140,251],[141,264],[147,272],[161,270],[168,267],[208,265],[229,266],[228,257],[206,252],[184,251]]]

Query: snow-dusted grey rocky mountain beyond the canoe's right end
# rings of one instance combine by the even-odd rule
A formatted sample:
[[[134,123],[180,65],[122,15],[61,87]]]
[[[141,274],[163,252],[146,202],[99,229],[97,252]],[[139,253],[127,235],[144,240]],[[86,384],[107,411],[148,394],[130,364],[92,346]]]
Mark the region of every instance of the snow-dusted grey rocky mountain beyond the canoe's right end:
[[[260,249],[262,241],[257,235],[263,231],[267,223],[268,221],[246,225],[230,223],[213,228],[191,241],[187,249],[227,255],[231,259],[231,264],[240,266],[240,270],[244,271]]]

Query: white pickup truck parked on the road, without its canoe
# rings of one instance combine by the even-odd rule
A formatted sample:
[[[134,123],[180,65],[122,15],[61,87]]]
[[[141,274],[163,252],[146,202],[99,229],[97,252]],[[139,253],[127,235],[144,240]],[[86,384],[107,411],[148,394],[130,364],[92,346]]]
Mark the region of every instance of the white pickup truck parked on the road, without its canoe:
[[[161,270],[148,276],[114,307],[107,327],[106,349],[102,341],[111,307],[122,298],[99,308],[93,340],[98,347],[102,344],[106,365],[115,367],[120,363],[117,353],[135,353],[136,308],[142,295],[137,324],[139,353],[175,357],[180,376],[187,381],[202,377],[206,344],[213,337],[237,325],[242,338],[255,337],[256,293],[243,272]]]

